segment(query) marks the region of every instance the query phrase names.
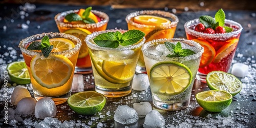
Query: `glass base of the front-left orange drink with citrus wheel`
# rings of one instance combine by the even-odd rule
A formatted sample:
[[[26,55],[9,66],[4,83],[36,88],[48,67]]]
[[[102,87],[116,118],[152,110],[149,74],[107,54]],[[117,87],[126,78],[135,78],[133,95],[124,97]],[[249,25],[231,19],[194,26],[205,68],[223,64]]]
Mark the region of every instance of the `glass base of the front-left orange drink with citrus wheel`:
[[[56,105],[66,102],[68,100],[68,98],[71,96],[71,91],[62,96],[56,96],[56,97],[41,96],[41,95],[36,94],[34,91],[33,91],[33,93],[34,93],[34,97],[35,97],[36,101],[38,101],[41,98],[47,97],[47,98],[51,98]]]

